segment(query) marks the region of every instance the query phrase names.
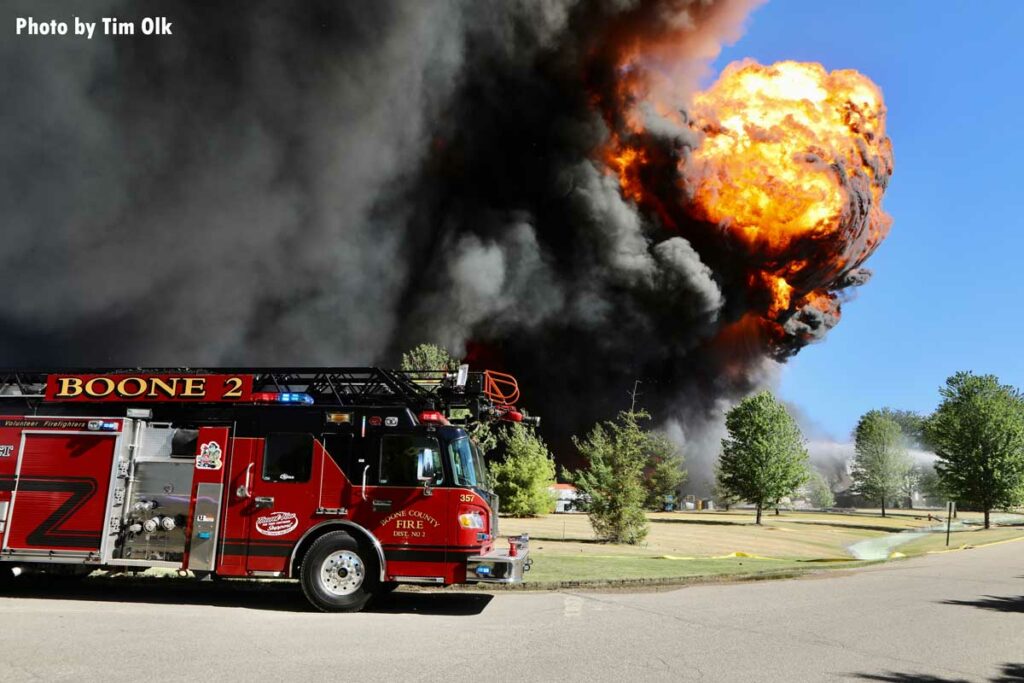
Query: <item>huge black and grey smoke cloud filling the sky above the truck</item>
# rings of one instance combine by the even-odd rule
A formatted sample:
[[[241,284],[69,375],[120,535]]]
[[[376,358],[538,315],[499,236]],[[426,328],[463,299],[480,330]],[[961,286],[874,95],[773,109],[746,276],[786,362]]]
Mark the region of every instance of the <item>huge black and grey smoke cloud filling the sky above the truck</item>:
[[[677,173],[702,133],[621,105],[623,83],[688,101],[755,4],[80,3],[87,20],[166,15],[174,35],[0,45],[0,353],[390,365],[437,342],[515,373],[566,460],[641,380],[707,478],[695,454],[717,453],[730,401],[838,308],[796,311],[802,341],[779,354],[713,226],[677,213],[669,229],[602,150],[641,117]]]

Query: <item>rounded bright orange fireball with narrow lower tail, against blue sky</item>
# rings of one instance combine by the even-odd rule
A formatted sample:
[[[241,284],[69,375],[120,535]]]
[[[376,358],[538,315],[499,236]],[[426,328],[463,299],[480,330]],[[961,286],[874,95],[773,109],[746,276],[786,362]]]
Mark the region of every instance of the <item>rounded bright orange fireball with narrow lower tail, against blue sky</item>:
[[[825,292],[889,231],[892,173],[878,86],[855,71],[782,61],[731,65],[691,109],[703,137],[680,169],[692,210],[764,269],[766,315],[821,309]],[[838,316],[837,305],[830,305]]]

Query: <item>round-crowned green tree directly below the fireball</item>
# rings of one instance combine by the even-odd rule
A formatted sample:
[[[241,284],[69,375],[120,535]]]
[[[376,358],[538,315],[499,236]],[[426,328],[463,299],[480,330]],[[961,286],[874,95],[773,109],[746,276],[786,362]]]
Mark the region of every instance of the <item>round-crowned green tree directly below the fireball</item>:
[[[719,488],[754,503],[757,523],[766,505],[792,496],[808,477],[807,449],[797,421],[769,391],[744,398],[725,416],[728,436],[718,461]]]

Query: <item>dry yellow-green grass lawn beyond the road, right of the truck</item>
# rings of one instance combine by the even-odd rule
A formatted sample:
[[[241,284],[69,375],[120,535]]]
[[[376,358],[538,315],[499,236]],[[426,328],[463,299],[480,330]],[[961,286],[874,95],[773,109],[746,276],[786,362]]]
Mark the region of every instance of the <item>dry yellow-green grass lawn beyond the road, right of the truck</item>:
[[[649,513],[650,531],[638,546],[599,543],[585,514],[502,518],[501,533],[528,532],[534,568],[527,583],[603,579],[686,579],[849,567],[847,548],[865,539],[924,529],[940,522],[930,511],[899,510],[885,518],[877,510],[842,513],[766,514],[762,526],[748,510]],[[980,515],[961,513],[961,519]],[[950,548],[1024,539],[1024,527],[954,531]],[[899,547],[903,555],[945,549],[944,533],[929,533]],[[746,557],[728,557],[741,553]]]

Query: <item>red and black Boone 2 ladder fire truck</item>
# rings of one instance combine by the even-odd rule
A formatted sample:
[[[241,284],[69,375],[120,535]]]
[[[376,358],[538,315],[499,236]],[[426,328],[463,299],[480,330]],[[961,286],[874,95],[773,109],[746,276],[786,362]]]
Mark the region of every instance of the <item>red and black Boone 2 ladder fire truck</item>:
[[[177,569],[296,579],[324,611],[516,583],[470,435],[538,421],[511,376],[382,368],[0,372],[0,583]]]

